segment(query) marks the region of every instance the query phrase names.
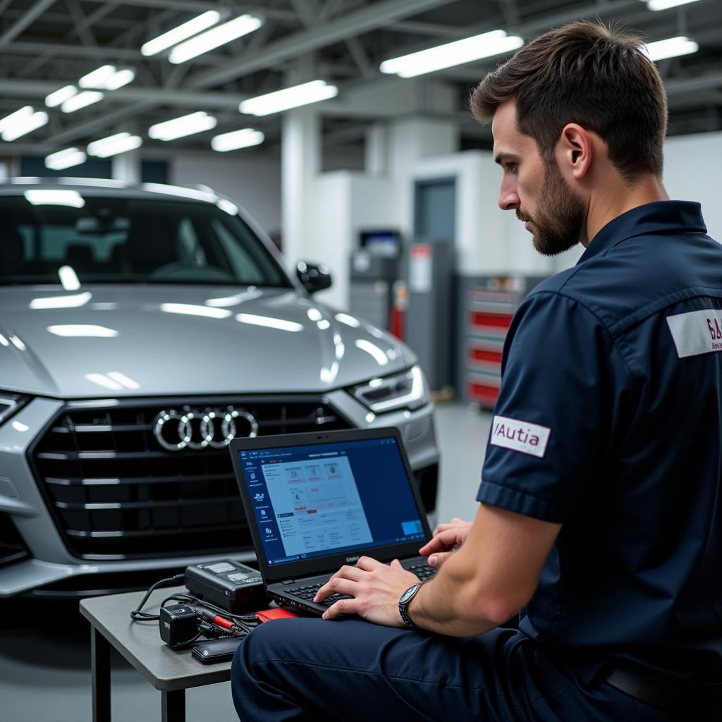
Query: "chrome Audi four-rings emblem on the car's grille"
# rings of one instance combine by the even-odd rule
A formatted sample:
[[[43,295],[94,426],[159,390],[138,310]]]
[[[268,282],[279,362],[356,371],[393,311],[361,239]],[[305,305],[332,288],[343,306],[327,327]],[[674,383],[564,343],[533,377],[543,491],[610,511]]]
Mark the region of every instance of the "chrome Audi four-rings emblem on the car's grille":
[[[210,446],[214,449],[229,445],[236,435],[258,435],[258,421],[245,409],[183,409],[162,411],[153,422],[153,435],[168,451],[189,448],[197,451]]]

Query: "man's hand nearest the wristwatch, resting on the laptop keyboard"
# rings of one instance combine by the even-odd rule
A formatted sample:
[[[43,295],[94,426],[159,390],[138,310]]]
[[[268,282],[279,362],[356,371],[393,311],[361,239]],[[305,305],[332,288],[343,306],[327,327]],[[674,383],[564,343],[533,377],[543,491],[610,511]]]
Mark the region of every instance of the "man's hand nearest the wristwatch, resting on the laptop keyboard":
[[[323,619],[358,614],[377,625],[404,627],[399,599],[418,580],[417,575],[406,571],[397,559],[386,565],[370,557],[361,557],[355,567],[341,567],[318,590],[313,601],[323,601],[333,593],[348,594],[353,599],[339,599],[323,612]]]

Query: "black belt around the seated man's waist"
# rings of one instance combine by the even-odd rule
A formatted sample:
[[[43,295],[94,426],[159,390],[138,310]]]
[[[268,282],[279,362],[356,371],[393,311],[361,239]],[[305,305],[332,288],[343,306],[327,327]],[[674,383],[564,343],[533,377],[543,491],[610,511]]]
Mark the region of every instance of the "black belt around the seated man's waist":
[[[645,705],[684,720],[692,716],[700,716],[705,722],[721,718],[722,684],[689,682],[624,661],[612,663],[606,682]]]

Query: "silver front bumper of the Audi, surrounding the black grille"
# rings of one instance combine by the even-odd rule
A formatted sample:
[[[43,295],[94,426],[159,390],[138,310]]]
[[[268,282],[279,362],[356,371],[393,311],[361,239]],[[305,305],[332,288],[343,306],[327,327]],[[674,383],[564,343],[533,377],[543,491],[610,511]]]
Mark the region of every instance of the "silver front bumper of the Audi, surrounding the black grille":
[[[414,473],[422,480],[422,497],[427,508],[433,508],[439,454],[431,404],[414,412],[374,416],[344,391],[327,393],[321,401],[352,427],[399,427]],[[56,591],[58,596],[70,591],[79,594],[83,589],[97,589],[95,580],[100,577],[104,580],[102,588],[111,588],[108,575],[117,575],[127,583],[134,576],[144,578],[155,570],[182,570],[209,560],[253,560],[253,550],[247,545],[222,553],[197,549],[184,554],[154,554],[149,549],[143,558],[113,560],[88,560],[71,552],[67,537],[58,529],[57,513],[48,508],[51,502],[39,486],[32,457],[38,438],[65,408],[64,401],[36,398],[0,427],[0,515],[6,528],[14,530],[14,547],[22,549],[21,553],[0,556],[0,598],[43,588],[48,593]]]

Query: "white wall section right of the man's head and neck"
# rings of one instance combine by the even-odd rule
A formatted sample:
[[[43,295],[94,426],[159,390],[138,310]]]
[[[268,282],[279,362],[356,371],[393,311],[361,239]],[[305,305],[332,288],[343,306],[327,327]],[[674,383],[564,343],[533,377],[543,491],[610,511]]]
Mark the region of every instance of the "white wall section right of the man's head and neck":
[[[722,243],[722,133],[674,136],[664,143],[664,185],[671,199],[698,201],[707,232]]]

